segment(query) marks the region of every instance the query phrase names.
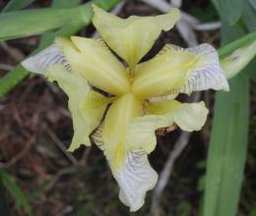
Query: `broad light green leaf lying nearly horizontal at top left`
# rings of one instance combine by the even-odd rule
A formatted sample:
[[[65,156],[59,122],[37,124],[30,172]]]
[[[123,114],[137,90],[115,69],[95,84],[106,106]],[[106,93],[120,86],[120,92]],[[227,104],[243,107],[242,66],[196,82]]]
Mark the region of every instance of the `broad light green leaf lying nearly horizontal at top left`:
[[[81,22],[80,8],[33,9],[0,15],[0,41],[14,39]]]

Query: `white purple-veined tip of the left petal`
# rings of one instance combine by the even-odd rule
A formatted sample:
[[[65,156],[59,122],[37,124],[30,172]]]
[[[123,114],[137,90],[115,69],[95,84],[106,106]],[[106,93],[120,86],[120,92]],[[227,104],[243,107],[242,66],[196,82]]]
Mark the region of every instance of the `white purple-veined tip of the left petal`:
[[[61,64],[71,72],[71,66],[62,52],[62,46],[72,46],[72,44],[66,39],[57,38],[52,45],[23,61],[23,67],[32,73],[43,75],[49,67]]]

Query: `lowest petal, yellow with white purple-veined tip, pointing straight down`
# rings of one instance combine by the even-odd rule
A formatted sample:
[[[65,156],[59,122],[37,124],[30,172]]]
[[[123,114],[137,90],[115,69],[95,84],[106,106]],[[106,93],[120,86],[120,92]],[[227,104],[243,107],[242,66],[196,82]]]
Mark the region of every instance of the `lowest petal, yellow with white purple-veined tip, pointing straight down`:
[[[131,211],[138,210],[144,204],[146,192],[153,189],[158,180],[145,150],[132,149],[124,142],[128,125],[140,115],[141,102],[132,94],[124,95],[110,106],[103,127],[99,127],[93,135],[120,187],[119,197]]]

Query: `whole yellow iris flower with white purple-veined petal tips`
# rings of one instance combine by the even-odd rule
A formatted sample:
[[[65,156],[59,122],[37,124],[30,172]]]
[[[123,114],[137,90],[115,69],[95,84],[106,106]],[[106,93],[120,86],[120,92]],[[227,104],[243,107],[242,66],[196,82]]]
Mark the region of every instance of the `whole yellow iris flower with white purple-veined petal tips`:
[[[103,40],[56,38],[23,66],[57,81],[67,93],[74,125],[69,150],[90,145],[93,138],[108,160],[121,201],[136,211],[158,180],[148,161],[157,144],[155,131],[176,124],[193,132],[206,121],[204,102],[180,103],[175,96],[209,88],[228,90],[228,84],[209,44],[188,49],[167,44],[155,58],[139,63],[161,30],[169,30],[179,19],[177,9],[125,20],[96,6],[94,10],[93,23]]]

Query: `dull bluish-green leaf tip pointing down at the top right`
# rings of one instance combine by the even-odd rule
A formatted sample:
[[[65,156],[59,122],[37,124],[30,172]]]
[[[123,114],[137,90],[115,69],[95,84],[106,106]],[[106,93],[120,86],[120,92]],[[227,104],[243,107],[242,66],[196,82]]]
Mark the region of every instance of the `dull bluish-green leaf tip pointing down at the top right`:
[[[221,16],[229,25],[234,25],[242,15],[244,0],[213,0]]]

